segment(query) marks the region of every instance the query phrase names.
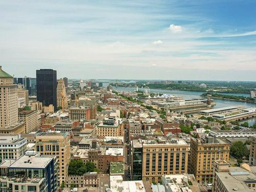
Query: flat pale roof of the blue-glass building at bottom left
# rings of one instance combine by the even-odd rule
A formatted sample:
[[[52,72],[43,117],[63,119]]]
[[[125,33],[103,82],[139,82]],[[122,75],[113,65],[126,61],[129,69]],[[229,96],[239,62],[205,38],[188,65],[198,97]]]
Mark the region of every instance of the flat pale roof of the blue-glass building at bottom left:
[[[45,168],[52,160],[53,160],[53,157],[38,156],[38,155],[31,155],[31,156],[24,155],[18,158],[9,167],[10,168]]]

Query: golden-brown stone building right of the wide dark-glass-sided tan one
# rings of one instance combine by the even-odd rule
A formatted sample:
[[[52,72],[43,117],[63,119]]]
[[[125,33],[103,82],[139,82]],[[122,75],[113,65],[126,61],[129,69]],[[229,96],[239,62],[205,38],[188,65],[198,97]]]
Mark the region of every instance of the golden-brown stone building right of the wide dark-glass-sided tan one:
[[[208,137],[205,141],[191,139],[189,173],[195,175],[198,183],[212,180],[214,160],[229,162],[228,143],[213,137]]]

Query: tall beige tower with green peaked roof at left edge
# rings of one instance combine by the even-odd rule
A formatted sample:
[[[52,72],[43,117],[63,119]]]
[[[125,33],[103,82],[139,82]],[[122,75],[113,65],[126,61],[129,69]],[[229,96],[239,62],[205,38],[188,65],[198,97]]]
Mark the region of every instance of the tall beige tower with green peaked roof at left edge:
[[[13,77],[2,70],[0,66],[0,127],[7,128],[18,124],[17,84]]]

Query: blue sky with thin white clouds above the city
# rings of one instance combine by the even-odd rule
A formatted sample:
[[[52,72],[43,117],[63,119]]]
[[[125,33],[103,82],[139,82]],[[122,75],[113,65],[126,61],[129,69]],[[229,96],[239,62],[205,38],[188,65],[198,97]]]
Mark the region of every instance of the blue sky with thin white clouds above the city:
[[[256,81],[256,1],[0,1],[17,76]]]

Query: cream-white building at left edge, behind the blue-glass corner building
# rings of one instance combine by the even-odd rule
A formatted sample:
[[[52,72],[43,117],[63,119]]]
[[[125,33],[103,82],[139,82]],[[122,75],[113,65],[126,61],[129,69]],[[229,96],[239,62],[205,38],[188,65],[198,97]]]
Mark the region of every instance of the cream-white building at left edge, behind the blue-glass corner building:
[[[5,159],[17,159],[26,151],[27,139],[17,135],[0,135],[0,162]]]

